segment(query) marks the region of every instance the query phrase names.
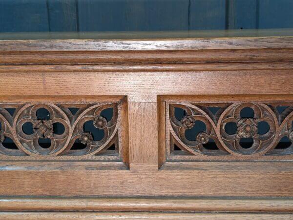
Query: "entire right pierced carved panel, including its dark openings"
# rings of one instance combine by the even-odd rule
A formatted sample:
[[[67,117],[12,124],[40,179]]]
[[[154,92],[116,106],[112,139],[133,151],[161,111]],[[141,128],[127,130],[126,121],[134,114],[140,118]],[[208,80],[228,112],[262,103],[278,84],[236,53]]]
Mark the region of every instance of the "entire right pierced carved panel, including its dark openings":
[[[293,158],[293,103],[170,102],[166,110],[169,160]]]

